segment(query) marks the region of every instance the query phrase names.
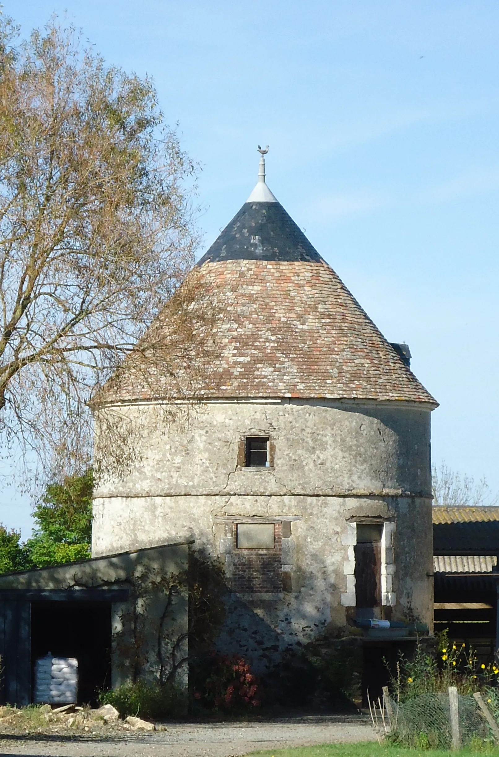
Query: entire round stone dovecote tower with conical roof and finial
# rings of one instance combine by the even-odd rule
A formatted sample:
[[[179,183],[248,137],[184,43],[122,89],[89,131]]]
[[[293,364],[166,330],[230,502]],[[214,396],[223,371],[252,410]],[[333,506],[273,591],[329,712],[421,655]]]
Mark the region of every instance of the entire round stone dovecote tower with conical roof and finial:
[[[270,192],[263,155],[192,276],[223,315],[209,360],[201,340],[177,363],[209,363],[189,421],[158,420],[189,382],[176,396],[157,367],[152,391],[133,356],[95,398],[98,425],[113,408],[135,423],[140,454],[101,481],[92,554],[195,540],[232,592],[220,645],[260,670],[366,618],[431,629],[437,403]],[[168,316],[151,332],[167,341]]]

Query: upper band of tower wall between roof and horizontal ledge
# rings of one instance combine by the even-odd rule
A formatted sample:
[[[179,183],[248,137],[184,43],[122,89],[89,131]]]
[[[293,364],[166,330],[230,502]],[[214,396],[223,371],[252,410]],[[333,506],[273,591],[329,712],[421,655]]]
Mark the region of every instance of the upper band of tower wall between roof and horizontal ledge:
[[[174,407],[171,420],[147,403],[106,413],[114,427],[120,418],[133,423],[136,459],[127,474],[103,478],[97,499],[431,494],[429,411],[406,403],[213,401]],[[273,467],[240,466],[240,440],[258,435],[270,437]]]

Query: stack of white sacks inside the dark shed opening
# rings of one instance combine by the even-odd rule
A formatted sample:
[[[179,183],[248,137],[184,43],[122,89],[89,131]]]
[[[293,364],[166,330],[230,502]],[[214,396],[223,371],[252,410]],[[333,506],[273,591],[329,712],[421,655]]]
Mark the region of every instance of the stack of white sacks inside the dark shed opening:
[[[47,656],[36,660],[35,702],[70,704],[78,701],[78,660]]]

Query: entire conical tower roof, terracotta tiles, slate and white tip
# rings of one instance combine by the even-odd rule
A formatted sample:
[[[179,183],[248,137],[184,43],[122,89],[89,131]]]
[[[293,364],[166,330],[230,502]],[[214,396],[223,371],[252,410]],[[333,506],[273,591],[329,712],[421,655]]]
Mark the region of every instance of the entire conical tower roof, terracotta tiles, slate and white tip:
[[[154,366],[154,389],[132,355],[96,400],[329,397],[436,407],[261,179],[189,276],[211,309],[206,319],[201,308],[198,327],[188,307],[198,338],[179,349],[167,306],[143,340],[175,356],[168,369]]]

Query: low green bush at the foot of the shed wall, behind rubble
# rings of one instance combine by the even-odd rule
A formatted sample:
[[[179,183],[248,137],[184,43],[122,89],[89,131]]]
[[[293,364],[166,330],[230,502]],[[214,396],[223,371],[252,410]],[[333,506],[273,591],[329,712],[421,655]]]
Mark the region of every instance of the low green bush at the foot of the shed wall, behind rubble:
[[[99,694],[101,705],[116,707],[122,718],[127,715],[141,718],[170,718],[182,715],[184,700],[174,684],[148,685],[143,681],[123,684]]]

